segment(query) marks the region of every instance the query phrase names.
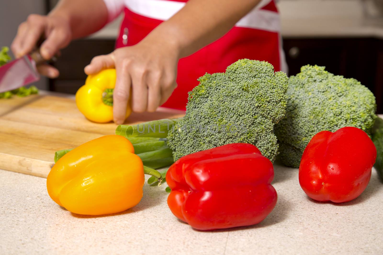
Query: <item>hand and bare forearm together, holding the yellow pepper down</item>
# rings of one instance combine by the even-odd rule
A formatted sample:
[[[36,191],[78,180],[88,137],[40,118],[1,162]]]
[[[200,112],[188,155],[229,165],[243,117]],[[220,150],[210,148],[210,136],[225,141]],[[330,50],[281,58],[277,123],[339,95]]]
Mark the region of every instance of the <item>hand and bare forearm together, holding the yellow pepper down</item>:
[[[103,68],[116,68],[114,121],[124,122],[128,99],[134,112],[154,112],[177,86],[178,60],[219,39],[260,0],[237,2],[190,0],[138,44],[93,58],[85,67],[88,75]]]

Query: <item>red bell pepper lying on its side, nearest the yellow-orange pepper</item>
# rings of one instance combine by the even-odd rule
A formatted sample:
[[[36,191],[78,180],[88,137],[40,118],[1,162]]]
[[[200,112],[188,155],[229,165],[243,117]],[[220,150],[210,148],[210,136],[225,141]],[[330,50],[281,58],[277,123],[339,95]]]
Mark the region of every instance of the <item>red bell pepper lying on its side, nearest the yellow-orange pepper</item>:
[[[172,213],[195,229],[261,222],[277,203],[273,164],[254,145],[233,143],[178,159],[166,174]]]

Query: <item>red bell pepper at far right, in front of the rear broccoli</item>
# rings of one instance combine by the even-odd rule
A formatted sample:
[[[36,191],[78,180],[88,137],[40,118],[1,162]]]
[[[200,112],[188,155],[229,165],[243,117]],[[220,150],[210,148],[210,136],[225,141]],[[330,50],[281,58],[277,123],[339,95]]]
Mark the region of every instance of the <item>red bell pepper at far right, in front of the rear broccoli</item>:
[[[376,148],[363,130],[322,131],[304,149],[299,183],[314,200],[347,202],[367,187],[375,159]]]

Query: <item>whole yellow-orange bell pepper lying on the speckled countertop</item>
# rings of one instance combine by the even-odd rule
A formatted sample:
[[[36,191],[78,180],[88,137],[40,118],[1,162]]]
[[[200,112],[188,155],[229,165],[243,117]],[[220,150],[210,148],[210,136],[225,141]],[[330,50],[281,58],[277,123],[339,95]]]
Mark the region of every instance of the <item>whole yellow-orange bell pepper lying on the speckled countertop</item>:
[[[69,151],[47,177],[53,201],[87,215],[118,213],[137,205],[143,186],[142,161],[129,140],[119,135],[102,136]]]

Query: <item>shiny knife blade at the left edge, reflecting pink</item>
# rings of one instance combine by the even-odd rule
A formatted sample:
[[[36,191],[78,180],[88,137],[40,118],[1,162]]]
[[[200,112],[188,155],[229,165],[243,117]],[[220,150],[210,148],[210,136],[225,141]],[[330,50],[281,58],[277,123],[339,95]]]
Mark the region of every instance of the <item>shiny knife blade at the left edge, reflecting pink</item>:
[[[0,93],[20,88],[39,79],[36,62],[30,55],[25,55],[0,67]]]

